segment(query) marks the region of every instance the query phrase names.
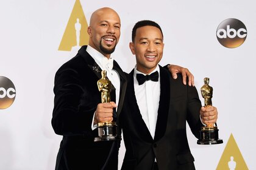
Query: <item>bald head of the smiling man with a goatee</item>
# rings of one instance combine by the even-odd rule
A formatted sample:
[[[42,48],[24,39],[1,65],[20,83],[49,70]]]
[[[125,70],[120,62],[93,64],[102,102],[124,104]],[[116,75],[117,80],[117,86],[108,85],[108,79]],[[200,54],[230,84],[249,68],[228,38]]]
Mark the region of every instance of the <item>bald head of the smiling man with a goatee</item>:
[[[96,10],[88,27],[89,45],[110,58],[118,43],[120,28],[121,21],[115,10],[108,7]]]

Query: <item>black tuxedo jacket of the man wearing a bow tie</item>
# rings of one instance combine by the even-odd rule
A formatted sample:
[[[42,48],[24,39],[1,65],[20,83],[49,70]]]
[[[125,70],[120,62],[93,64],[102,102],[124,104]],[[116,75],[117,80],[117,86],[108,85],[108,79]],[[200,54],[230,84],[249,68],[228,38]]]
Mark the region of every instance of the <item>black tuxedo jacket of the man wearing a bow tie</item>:
[[[203,124],[199,116],[201,101],[196,88],[183,85],[181,75],[177,80],[172,79],[168,70],[160,66],[160,102],[153,139],[135,98],[133,70],[127,81],[126,98],[119,117],[126,146],[122,170],[152,169],[155,158],[160,170],[194,169],[186,120],[193,134],[199,138]]]

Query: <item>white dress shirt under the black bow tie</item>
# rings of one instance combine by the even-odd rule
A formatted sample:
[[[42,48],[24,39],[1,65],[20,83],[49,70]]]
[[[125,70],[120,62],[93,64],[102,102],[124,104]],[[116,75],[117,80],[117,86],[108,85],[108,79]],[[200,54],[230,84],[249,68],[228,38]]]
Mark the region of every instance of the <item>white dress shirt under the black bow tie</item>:
[[[159,66],[155,68],[151,73],[158,71],[158,81],[145,81],[145,83],[139,85],[136,74],[141,73],[135,66],[133,79],[134,79],[134,91],[137,100],[140,114],[146,123],[146,126],[151,133],[152,138],[155,137],[155,126],[157,124],[158,106],[160,100],[160,69]],[[143,75],[146,75],[142,73]],[[150,74],[150,73],[149,73]]]

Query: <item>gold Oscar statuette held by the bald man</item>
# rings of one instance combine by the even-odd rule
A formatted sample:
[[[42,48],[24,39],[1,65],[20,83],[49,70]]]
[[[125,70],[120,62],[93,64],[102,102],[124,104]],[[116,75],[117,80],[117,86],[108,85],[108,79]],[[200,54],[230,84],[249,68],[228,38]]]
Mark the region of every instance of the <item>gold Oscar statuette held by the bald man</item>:
[[[112,83],[107,78],[107,71],[102,70],[102,78],[98,80],[97,85],[101,92],[101,103],[110,103],[110,92]],[[98,137],[94,141],[121,140],[118,135],[118,129],[115,121],[98,123]]]

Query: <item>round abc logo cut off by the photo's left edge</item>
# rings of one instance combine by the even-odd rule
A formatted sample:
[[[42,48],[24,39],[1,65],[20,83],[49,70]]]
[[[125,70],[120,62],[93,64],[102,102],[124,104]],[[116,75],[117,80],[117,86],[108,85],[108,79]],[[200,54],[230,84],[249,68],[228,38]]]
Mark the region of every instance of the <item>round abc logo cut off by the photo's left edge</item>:
[[[10,107],[15,100],[15,86],[7,77],[0,76],[0,109]]]

